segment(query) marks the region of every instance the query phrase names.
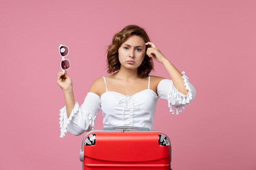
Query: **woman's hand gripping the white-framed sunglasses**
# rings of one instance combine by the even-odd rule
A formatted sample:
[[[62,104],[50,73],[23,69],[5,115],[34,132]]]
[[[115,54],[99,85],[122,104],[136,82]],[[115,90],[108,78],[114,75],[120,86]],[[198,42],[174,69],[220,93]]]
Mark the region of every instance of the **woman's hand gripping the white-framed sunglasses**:
[[[72,79],[69,75],[67,75],[67,71],[58,72],[57,77],[57,83],[63,91],[72,90]]]

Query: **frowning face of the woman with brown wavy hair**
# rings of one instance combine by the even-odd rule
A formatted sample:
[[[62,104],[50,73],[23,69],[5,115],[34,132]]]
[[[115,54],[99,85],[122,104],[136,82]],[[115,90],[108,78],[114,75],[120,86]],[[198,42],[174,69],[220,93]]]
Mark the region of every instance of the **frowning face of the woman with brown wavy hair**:
[[[144,40],[138,35],[132,35],[118,49],[121,67],[129,69],[138,68],[142,63],[146,51]]]

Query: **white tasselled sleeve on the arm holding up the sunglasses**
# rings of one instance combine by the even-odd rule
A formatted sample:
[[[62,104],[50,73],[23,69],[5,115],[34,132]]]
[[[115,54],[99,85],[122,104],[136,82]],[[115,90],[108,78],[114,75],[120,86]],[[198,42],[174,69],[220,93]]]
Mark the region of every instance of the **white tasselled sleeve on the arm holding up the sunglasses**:
[[[66,106],[60,109],[61,136],[65,137],[66,132],[73,135],[81,135],[83,132],[94,130],[94,121],[101,108],[99,95],[88,92],[81,107],[76,102],[75,106],[67,118]]]

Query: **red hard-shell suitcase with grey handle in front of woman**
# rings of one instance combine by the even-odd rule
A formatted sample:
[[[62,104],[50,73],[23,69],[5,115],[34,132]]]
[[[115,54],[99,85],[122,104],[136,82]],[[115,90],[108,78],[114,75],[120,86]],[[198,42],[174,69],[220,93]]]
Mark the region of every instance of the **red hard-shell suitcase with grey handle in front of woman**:
[[[83,138],[80,160],[83,170],[170,170],[171,144],[148,128],[92,130]]]

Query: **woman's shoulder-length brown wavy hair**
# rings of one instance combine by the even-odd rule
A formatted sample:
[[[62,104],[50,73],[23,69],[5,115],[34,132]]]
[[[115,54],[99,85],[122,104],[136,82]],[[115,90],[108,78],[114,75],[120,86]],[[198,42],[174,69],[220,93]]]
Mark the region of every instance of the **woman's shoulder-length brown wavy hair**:
[[[121,64],[118,58],[118,49],[121,44],[126,42],[126,40],[128,40],[128,38],[130,38],[132,35],[138,35],[144,40],[145,43],[150,41],[146,31],[137,25],[128,25],[124,27],[124,29],[122,29],[120,32],[116,33],[112,39],[112,44],[108,46],[107,50],[108,73],[114,73],[120,70]],[[147,49],[148,45],[146,45],[146,51]],[[153,60],[151,57],[148,57],[146,51],[144,61],[138,67],[139,78],[147,77],[150,71],[154,70]]]

